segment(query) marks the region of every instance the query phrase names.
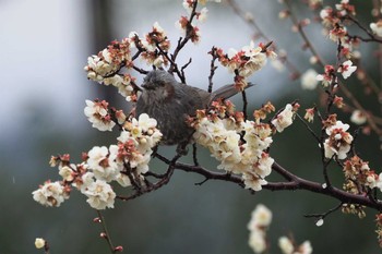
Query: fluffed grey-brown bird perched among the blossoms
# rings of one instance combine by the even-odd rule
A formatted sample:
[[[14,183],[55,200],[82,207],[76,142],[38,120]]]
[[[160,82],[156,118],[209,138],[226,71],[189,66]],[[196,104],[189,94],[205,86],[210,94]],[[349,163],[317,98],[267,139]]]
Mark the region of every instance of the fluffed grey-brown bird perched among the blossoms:
[[[252,85],[247,86],[246,88]],[[177,82],[165,70],[153,70],[143,78],[142,94],[135,105],[135,114],[147,113],[157,121],[163,136],[160,145],[178,145],[181,150],[191,140],[194,130],[187,118],[195,116],[218,98],[227,99],[239,90],[234,84],[225,85],[213,93]],[[180,148],[182,147],[182,148]]]

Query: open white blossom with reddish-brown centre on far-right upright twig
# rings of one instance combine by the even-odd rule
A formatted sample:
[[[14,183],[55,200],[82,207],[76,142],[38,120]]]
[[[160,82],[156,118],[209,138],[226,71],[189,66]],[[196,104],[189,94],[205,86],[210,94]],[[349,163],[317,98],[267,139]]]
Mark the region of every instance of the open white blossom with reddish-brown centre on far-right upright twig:
[[[337,121],[336,124],[326,128],[327,138],[324,143],[325,157],[332,158],[334,155],[338,159],[345,159],[350,150],[353,136],[346,132],[349,129],[348,124]]]

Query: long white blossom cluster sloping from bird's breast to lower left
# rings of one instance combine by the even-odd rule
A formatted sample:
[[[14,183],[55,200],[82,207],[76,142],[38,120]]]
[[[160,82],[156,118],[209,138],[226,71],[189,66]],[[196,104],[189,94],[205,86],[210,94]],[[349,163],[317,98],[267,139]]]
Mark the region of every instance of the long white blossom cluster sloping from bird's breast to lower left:
[[[70,162],[69,155],[52,157],[50,165],[58,165],[61,181],[47,181],[33,192],[33,198],[45,206],[59,207],[76,188],[95,209],[112,208],[116,193],[110,183],[121,186],[141,184],[148,170],[152,148],[158,144],[162,133],[156,120],[143,113],[123,124],[123,131],[115,145],[95,146],[83,154],[83,162]]]

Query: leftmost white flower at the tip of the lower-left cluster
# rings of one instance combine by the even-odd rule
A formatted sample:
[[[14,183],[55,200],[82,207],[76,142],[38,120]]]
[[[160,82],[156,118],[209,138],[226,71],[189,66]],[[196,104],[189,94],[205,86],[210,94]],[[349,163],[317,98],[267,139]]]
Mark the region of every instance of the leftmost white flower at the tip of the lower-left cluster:
[[[69,196],[60,182],[46,182],[38,190],[32,192],[33,199],[44,206],[59,207]]]

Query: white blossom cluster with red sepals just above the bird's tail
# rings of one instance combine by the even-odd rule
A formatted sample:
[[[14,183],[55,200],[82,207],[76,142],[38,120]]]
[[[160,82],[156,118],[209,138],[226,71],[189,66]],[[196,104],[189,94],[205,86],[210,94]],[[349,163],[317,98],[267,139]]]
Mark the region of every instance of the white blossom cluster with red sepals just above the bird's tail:
[[[238,89],[242,90],[247,86],[246,78],[262,69],[266,63],[266,58],[276,58],[276,53],[267,47],[263,44],[255,46],[251,41],[240,50],[229,49],[228,53],[225,53],[223,49],[217,49],[218,61],[229,72],[235,73],[235,84]]]

